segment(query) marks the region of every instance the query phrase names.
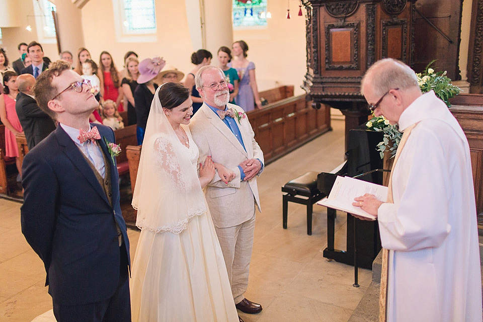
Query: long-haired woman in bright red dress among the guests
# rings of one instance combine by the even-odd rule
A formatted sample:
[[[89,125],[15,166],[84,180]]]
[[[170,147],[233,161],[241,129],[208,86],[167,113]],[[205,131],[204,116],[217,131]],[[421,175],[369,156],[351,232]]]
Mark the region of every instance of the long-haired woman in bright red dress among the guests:
[[[104,101],[112,100],[119,106],[118,111],[124,111],[121,104],[122,99],[122,87],[121,80],[119,79],[119,71],[117,71],[112,56],[109,52],[103,51],[99,58],[99,72],[98,76],[101,80],[101,96]]]

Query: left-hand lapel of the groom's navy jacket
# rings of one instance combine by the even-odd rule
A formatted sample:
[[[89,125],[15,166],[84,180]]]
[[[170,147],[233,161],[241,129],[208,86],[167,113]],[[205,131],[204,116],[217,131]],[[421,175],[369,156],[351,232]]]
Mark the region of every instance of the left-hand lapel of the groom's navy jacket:
[[[72,141],[67,133],[65,133],[60,125],[57,126],[55,134],[57,136],[59,144],[62,146],[62,151],[67,156],[67,158],[70,159],[75,168],[77,168],[79,172],[81,172],[81,174],[86,177],[86,180],[89,182],[89,184],[94,188],[94,190],[97,191],[97,193],[102,196],[102,198],[109,205],[109,200],[107,200],[104,189],[97,180],[94,171],[91,169],[91,166],[89,166],[86,159],[82,155],[83,152],[77,147],[77,145],[74,143],[74,141]]]

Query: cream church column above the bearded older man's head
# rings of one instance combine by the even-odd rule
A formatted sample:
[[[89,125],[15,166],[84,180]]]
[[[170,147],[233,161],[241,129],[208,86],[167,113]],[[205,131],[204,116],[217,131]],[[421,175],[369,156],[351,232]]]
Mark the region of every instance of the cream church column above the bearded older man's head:
[[[231,1],[186,0],[185,3],[193,49],[207,49],[215,60],[218,48],[230,48],[233,42]]]

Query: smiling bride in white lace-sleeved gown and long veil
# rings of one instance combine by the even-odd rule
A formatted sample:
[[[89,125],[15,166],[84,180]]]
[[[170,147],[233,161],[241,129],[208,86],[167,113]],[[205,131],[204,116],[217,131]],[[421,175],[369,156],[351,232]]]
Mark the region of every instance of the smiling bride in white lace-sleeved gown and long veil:
[[[187,126],[191,105],[190,91],[175,83],[159,87],[151,104],[132,201],[141,229],[132,266],[133,321],[238,321],[202,192],[215,166],[228,181],[231,173],[209,157],[197,165]]]

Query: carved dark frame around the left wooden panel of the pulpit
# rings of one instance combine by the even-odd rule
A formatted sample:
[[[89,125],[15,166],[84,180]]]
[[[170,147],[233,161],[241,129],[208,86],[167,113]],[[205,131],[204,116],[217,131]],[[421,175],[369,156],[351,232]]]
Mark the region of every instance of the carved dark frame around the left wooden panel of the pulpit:
[[[351,31],[353,57],[350,64],[333,64],[332,62],[332,44],[331,29],[348,29]],[[348,50],[351,50],[348,48]],[[359,69],[359,24],[358,23],[341,23],[326,25],[326,70],[336,69]]]

